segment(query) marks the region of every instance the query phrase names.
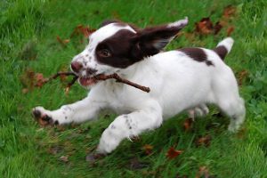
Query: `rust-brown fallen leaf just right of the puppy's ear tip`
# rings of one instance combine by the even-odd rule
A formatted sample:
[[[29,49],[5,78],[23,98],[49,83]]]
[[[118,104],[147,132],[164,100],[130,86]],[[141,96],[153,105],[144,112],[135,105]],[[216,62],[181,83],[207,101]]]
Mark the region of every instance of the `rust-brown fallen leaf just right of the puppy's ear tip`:
[[[213,23],[209,17],[203,18],[199,22],[195,23],[195,31],[200,35],[208,35],[213,33],[213,28]]]

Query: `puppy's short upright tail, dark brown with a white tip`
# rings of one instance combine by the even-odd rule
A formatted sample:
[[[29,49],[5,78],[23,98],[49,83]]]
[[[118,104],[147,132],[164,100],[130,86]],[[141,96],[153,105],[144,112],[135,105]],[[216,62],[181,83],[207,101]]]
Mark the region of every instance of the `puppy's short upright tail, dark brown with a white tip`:
[[[226,54],[231,52],[231,46],[234,40],[231,37],[226,37],[214,48],[214,52],[217,53],[222,60],[224,60]]]

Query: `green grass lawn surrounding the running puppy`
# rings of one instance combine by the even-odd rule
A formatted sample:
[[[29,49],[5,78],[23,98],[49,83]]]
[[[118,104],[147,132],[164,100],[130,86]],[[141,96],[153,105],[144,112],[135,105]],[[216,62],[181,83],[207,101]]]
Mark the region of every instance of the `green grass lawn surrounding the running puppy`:
[[[33,88],[28,93],[25,71],[33,69],[49,76],[66,68],[72,56],[85,46],[73,39],[62,47],[56,36],[69,38],[78,24],[97,28],[101,20],[117,17],[139,27],[166,23],[188,16],[191,32],[194,23],[211,15],[214,22],[229,4],[237,7],[230,20],[235,28],[235,44],[226,62],[237,77],[247,71],[240,86],[246,100],[247,120],[238,134],[227,132],[228,118],[217,109],[198,119],[190,132],[182,124],[186,115],[166,121],[157,130],[142,134],[135,142],[124,141],[108,157],[94,165],[85,156],[97,144],[101,132],[116,117],[99,119],[84,125],[40,128],[30,116],[31,108],[42,105],[57,109],[62,104],[82,99],[86,91],[79,85],[65,95],[59,81]],[[0,176],[1,177],[195,177],[206,166],[214,177],[267,177],[267,4],[264,0],[214,1],[44,1],[3,0],[0,2]],[[168,49],[180,46],[214,47],[226,28],[217,35],[184,34]],[[30,60],[31,59],[31,60]],[[24,76],[24,77],[23,77]],[[21,82],[22,81],[22,82]],[[103,115],[101,115],[103,117]],[[210,146],[197,147],[199,136],[210,135]],[[146,155],[142,147],[153,146]],[[172,160],[166,158],[170,147],[184,150]],[[59,158],[69,156],[64,163]],[[142,169],[130,167],[137,158]]]

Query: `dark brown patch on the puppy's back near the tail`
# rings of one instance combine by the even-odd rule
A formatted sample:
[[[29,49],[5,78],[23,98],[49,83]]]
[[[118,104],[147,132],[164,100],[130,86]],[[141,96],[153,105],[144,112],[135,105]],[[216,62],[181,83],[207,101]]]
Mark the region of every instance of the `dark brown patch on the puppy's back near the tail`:
[[[178,49],[178,51],[185,53],[194,61],[205,62],[207,66],[214,66],[212,61],[207,60],[207,56],[204,50],[200,48],[196,48],[196,47],[182,48],[182,49]]]

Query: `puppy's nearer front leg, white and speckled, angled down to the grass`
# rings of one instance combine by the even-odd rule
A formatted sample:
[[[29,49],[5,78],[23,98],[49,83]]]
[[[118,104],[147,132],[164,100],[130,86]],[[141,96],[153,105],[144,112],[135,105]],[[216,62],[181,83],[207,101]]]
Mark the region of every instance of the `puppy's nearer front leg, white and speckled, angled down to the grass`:
[[[110,153],[123,139],[131,139],[144,131],[155,129],[161,125],[162,120],[162,109],[156,101],[150,102],[150,105],[143,109],[121,115],[101,135],[97,152]]]

